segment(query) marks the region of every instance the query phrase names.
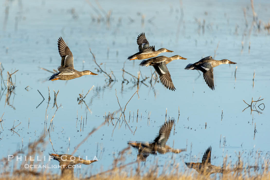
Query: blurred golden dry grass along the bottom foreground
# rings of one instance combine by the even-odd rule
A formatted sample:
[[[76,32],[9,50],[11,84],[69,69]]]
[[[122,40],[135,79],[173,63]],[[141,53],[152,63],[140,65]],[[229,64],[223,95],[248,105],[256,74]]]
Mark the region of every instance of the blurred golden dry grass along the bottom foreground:
[[[93,129],[89,135],[94,133],[96,129]],[[74,178],[73,171],[68,174],[68,176],[59,175],[60,173],[52,173],[50,169],[43,169],[39,171],[38,169],[26,169],[24,168],[25,164],[30,165],[40,165],[40,161],[31,161],[29,157],[35,157],[36,155],[42,155],[42,148],[49,144],[48,134],[44,133],[32,143],[29,143],[28,147],[17,150],[13,153],[16,155],[26,155],[27,160],[22,161],[8,161],[7,157],[0,159],[0,180],[1,179],[22,179],[22,180],[31,180],[31,179],[209,179],[209,176],[204,176],[198,174],[194,169],[185,167],[185,170],[181,170],[178,161],[170,160],[164,162],[163,166],[158,163],[158,161],[145,167],[141,166],[141,162],[136,160],[126,164],[128,155],[130,154],[130,147],[124,148],[120,151],[117,157],[112,162],[112,169],[106,171],[92,172],[87,171],[81,174],[78,174],[78,171],[75,170]],[[87,139],[89,135],[85,138]],[[46,138],[47,137],[47,138]],[[50,134],[49,134],[50,137]],[[83,143],[85,139],[81,142]],[[81,144],[79,143],[79,145]],[[77,147],[79,147],[79,145]],[[77,150],[75,148],[75,151]],[[26,153],[27,152],[27,153]],[[72,153],[73,154],[73,153]],[[255,152],[253,158],[255,158],[254,164],[249,164],[246,161],[246,158],[241,157],[239,152],[238,160],[234,164],[227,164],[227,156],[224,158],[222,167],[224,169],[233,168],[234,172],[229,174],[215,173],[210,175],[211,179],[270,179],[269,171],[269,162],[270,157],[268,153],[262,155],[261,152]],[[43,162],[44,163],[44,162]],[[96,162],[98,163],[98,162]],[[91,165],[89,165],[91,166]],[[59,172],[61,169],[59,169]],[[91,173],[91,174],[90,174]]]

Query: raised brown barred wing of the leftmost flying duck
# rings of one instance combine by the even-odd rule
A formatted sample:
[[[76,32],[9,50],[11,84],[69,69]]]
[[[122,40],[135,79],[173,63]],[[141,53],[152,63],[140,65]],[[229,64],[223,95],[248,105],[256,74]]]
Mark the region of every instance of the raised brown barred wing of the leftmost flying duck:
[[[62,37],[58,39],[57,44],[58,44],[59,54],[62,57],[61,66],[65,68],[68,67],[68,68],[74,69],[72,52],[70,51],[68,45],[65,43]]]

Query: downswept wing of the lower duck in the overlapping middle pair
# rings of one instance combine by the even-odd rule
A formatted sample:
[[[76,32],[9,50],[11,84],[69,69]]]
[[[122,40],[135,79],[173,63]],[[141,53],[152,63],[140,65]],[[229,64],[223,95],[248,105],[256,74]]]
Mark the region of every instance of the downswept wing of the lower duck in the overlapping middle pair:
[[[169,88],[170,90],[175,91],[176,88],[171,80],[171,74],[166,66],[165,60],[160,63],[155,63],[153,67],[158,73],[161,83],[167,87],[167,89]]]

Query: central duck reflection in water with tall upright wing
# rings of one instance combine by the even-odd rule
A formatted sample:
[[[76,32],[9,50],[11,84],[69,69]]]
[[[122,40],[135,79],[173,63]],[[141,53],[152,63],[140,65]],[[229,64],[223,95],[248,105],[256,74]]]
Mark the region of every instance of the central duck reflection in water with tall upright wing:
[[[159,134],[157,135],[155,140],[151,143],[141,141],[129,141],[127,144],[138,149],[139,152],[137,157],[141,161],[145,161],[146,158],[149,156],[149,154],[157,155],[157,152],[159,154],[166,154],[167,152],[173,152],[178,154],[180,152],[187,151],[187,149],[174,149],[166,145],[166,142],[170,137],[173,125],[174,120],[167,120],[160,127]]]

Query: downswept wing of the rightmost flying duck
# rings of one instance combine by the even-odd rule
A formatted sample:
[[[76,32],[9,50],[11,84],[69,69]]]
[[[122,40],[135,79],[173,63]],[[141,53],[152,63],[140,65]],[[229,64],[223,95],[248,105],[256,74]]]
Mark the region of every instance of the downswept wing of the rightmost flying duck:
[[[214,74],[213,66],[211,63],[203,63],[196,66],[198,70],[203,72],[203,78],[210,89],[214,90]]]

